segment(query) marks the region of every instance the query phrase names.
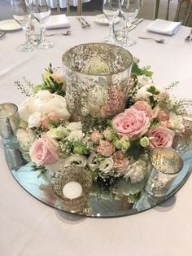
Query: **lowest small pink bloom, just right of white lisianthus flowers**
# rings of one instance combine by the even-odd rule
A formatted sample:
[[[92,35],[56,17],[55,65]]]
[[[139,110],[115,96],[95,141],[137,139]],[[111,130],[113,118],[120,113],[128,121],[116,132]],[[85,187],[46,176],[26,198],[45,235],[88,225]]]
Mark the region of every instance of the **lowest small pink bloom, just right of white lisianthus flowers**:
[[[124,157],[124,152],[117,151],[113,154],[114,168],[118,172],[124,172],[124,170],[129,166],[129,160],[127,157]]]

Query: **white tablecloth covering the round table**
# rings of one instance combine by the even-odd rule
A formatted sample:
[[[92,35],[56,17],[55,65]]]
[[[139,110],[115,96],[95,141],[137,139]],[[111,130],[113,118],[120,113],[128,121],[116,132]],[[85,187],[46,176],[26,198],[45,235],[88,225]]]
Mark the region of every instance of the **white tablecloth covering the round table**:
[[[83,42],[100,42],[108,27],[95,24],[91,17],[90,29],[81,29],[75,18],[70,18],[72,35],[49,38],[55,42],[50,50],[32,53],[15,51],[24,42],[22,31],[7,33],[0,40],[0,103],[20,104],[20,94],[14,81],[27,77],[41,82],[41,73],[51,62],[62,65],[62,54],[69,47]],[[175,90],[178,97],[192,95],[192,44],[184,42],[190,28],[182,27],[165,44],[144,41],[137,36],[146,33],[144,21],[130,33],[137,44],[129,51],[139,58],[140,65],[151,65],[154,80],[159,86],[180,81]],[[59,31],[62,31],[60,29]],[[192,179],[177,195],[164,204],[123,218],[83,218],[65,214],[37,201],[13,179],[0,148],[0,254],[2,256],[191,256],[192,234]]]

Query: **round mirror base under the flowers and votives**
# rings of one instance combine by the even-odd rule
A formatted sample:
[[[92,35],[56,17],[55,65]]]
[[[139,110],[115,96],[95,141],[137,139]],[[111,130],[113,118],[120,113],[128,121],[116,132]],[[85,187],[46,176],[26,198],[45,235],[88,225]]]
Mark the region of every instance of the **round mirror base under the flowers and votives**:
[[[53,192],[51,183],[52,177],[49,172],[41,174],[41,170],[34,170],[33,164],[26,164],[22,160],[21,154],[18,154],[18,152],[19,150],[16,148],[13,148],[12,152],[11,148],[9,148],[9,153],[7,154],[7,148],[5,148],[7,165],[15,179],[27,192],[36,197],[39,201],[55,207],[56,209],[97,218],[137,214],[143,210],[151,209],[177,192],[189,178],[191,172],[192,151],[182,155],[184,162],[183,169],[179,172],[164,197],[155,198],[148,196],[146,192],[144,192],[146,180],[140,183],[126,184],[119,181],[111,185],[111,191],[102,186],[98,186],[98,183],[93,183],[89,195],[84,198],[83,207],[81,207],[82,204],[80,203],[79,209],[75,207],[74,210],[73,206],[71,209],[70,205],[66,207],[68,205]],[[124,188],[124,185],[126,186],[126,196],[118,196],[117,192],[120,192],[120,190]],[[116,193],[112,192],[113,187],[116,188]],[[133,199],[131,195],[135,193],[137,193],[137,197]]]

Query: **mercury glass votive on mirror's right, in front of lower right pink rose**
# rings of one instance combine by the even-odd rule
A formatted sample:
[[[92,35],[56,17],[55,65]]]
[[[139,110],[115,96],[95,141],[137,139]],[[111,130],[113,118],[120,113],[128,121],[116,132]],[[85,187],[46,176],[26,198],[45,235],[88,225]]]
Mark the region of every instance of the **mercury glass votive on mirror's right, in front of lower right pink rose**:
[[[155,148],[151,151],[150,162],[152,170],[145,190],[151,196],[165,196],[183,168],[182,158],[172,148]]]

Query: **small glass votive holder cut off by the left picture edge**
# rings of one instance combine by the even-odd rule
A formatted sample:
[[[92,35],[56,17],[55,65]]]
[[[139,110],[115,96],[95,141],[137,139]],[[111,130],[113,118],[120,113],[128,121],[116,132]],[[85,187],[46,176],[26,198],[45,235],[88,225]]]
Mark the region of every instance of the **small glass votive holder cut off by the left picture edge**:
[[[19,124],[17,106],[12,103],[0,104],[0,135],[5,145],[17,141],[15,134]]]

